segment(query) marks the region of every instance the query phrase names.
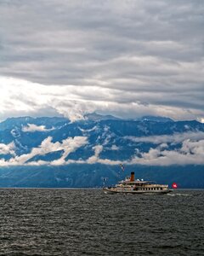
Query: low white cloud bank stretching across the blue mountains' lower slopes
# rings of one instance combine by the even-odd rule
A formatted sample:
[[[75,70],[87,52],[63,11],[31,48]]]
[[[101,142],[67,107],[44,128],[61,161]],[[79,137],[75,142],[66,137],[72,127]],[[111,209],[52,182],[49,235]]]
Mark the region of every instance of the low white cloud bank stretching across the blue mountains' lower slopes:
[[[11,158],[10,160],[4,160],[2,158],[0,160],[0,166],[60,166],[71,163],[100,163],[105,165],[119,165],[120,163],[122,163],[124,165],[139,164],[146,166],[204,165],[204,133],[188,133],[188,135],[190,136],[190,138],[186,138],[187,133],[180,135],[176,134],[174,135],[174,137],[154,137],[154,142],[158,144],[156,148],[150,148],[149,152],[147,153],[137,151],[137,154],[133,155],[131,160],[125,161],[100,159],[100,153],[104,149],[102,145],[94,146],[94,155],[89,157],[88,160],[65,160],[71,152],[74,152],[77,150],[77,148],[81,148],[88,144],[88,137],[68,137],[67,139],[63,140],[62,143],[53,143],[52,137],[48,137],[44,141],[42,141],[41,145],[38,148],[32,148],[31,153],[22,154],[20,156],[15,155],[14,153],[14,143],[9,143],[8,145],[1,143],[0,154],[12,154],[13,158]],[[148,139],[148,142],[153,142],[152,137],[149,137]],[[181,147],[173,150],[168,149],[167,143],[181,143]],[[118,148],[112,148],[112,150],[116,149]],[[53,160],[49,162],[42,160],[29,161],[37,155],[45,155],[50,152],[55,152],[59,150],[62,150],[62,154],[58,160]]]

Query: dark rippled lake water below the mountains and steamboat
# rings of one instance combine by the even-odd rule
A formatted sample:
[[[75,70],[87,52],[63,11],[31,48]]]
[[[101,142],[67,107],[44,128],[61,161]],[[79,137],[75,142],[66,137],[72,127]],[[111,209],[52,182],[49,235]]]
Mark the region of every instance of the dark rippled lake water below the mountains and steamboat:
[[[203,196],[0,189],[0,255],[204,255]]]

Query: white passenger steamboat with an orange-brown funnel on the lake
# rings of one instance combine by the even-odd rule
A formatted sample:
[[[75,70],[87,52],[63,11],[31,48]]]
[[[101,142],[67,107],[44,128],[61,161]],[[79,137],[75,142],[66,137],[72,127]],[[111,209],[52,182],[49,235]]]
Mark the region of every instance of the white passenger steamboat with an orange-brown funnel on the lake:
[[[156,184],[150,181],[135,180],[134,172],[131,172],[131,177],[120,181],[113,187],[103,188],[105,194],[167,194],[172,192],[172,189],[168,188],[168,185]]]

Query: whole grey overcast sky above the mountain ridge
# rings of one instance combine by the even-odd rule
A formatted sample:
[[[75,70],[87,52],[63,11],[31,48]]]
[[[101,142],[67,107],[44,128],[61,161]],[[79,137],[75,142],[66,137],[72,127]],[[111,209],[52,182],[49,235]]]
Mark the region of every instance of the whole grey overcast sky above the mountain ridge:
[[[1,0],[0,119],[204,121],[203,0]]]

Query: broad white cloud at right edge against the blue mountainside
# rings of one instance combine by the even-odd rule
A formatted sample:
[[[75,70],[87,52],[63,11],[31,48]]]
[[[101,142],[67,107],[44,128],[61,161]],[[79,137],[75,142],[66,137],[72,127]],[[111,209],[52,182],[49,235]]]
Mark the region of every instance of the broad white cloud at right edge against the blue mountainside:
[[[156,148],[150,148],[149,152],[139,152],[133,156],[128,164],[140,164],[148,166],[171,165],[203,165],[204,164],[204,132],[184,132],[173,135],[128,137],[133,142],[158,144]],[[178,144],[181,147],[171,150],[167,143]]]

